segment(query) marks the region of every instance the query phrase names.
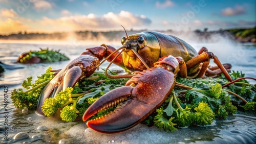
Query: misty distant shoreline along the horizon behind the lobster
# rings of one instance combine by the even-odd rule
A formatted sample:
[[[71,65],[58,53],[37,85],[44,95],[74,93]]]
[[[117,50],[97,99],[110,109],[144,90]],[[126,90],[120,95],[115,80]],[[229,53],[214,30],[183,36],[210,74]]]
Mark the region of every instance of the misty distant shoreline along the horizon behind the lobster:
[[[139,31],[127,31],[128,35],[140,33],[146,30]],[[209,41],[210,38],[221,35],[223,37],[227,37],[228,39],[236,42],[252,42],[256,43],[256,26],[248,29],[228,29],[228,30],[219,30],[219,31],[207,31],[205,28],[203,31],[195,30],[190,32],[177,32],[177,31],[159,31],[166,34],[171,34],[175,36],[187,36],[190,37],[198,37],[199,42],[201,40]],[[14,40],[14,41],[91,41],[91,42],[99,42],[99,41],[112,41],[119,42],[120,39],[125,36],[124,31],[109,31],[109,32],[93,32],[93,31],[78,31],[78,32],[56,32],[56,33],[24,33],[19,32],[17,34],[10,35],[0,35],[0,40]],[[181,37],[182,37],[181,36]]]

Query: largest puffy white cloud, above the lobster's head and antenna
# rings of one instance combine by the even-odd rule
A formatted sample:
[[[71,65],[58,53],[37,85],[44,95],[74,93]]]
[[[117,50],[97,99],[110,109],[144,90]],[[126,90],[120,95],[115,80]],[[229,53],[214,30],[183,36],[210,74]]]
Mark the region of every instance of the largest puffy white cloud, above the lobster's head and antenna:
[[[41,28],[48,32],[120,30],[120,25],[126,29],[142,29],[151,24],[151,20],[145,15],[138,16],[127,11],[121,11],[118,14],[109,12],[102,16],[91,13],[88,15],[62,16],[57,19],[43,17],[42,20],[37,20],[36,22],[37,25],[40,25]]]

